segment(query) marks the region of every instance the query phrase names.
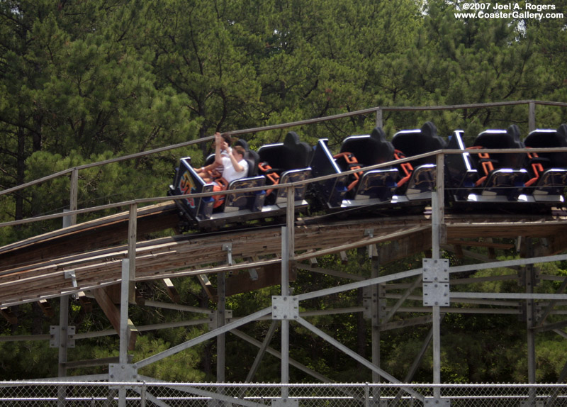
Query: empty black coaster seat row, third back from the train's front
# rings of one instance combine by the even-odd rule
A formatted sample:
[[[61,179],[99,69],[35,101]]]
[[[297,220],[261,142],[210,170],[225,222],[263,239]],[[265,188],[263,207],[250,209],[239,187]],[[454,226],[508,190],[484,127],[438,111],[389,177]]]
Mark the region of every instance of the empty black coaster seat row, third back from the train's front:
[[[387,167],[364,171],[364,167],[393,160],[394,147],[386,140],[381,128],[374,128],[369,135],[353,135],[344,139],[339,154],[334,156],[327,140],[319,140],[311,162],[315,177],[353,169],[360,171],[312,184],[314,194],[327,208],[389,202],[396,187],[398,169]]]

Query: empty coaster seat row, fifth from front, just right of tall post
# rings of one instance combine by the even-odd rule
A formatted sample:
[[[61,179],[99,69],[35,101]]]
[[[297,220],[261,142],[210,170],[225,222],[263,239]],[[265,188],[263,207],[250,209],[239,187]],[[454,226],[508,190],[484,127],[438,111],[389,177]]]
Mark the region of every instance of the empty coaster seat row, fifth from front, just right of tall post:
[[[447,157],[446,173],[451,199],[455,202],[517,202],[527,181],[524,153],[488,154],[483,149],[524,148],[520,130],[485,130],[466,148],[463,133],[456,130],[449,148],[463,150],[461,155]]]

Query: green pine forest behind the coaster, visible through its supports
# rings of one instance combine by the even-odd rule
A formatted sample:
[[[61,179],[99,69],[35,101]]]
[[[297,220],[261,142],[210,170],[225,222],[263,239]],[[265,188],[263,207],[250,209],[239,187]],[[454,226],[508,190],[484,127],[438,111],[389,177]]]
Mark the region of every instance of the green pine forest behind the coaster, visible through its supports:
[[[529,19],[455,18],[462,1],[443,0],[0,0],[0,189],[47,174],[164,145],[373,106],[437,106],[539,99],[566,101],[567,16]],[[524,1],[517,4],[524,6]],[[567,13],[565,0],[538,0]],[[537,126],[556,128],[564,108],[538,106]],[[388,135],[435,123],[440,135],[464,129],[471,140],[485,128],[512,123],[527,134],[527,106],[460,111],[384,113]],[[305,141],[328,138],[335,148],[347,135],[368,133],[374,115],[293,128]],[[287,130],[246,136],[252,147],[283,140]],[[86,169],[79,179],[79,207],[164,196],[179,157],[202,162],[210,145],[185,147],[131,162]],[[0,197],[0,221],[62,211],[68,179]],[[79,221],[86,220],[86,217]],[[45,222],[0,228],[0,245],[57,228]],[[368,274],[364,255],[340,266]],[[510,253],[509,255],[514,255]],[[420,257],[392,269],[419,264]],[[392,268],[393,267],[393,268]],[[546,272],[567,275],[567,264]],[[490,271],[489,271],[490,272]],[[183,303],[209,306],[201,286],[176,281]],[[300,274],[302,286],[339,284]],[[553,292],[554,286],[549,286]],[[158,286],[146,289],[160,295]],[[505,286],[497,289],[505,290]],[[231,297],[228,308],[245,315],[268,306],[272,289]],[[274,291],[274,293],[276,293]],[[162,293],[163,294],[163,293]],[[163,294],[165,295],[165,294]],[[357,291],[310,303],[313,308],[359,302]],[[54,303],[57,307],[57,304]],[[15,307],[18,323],[0,321],[1,333],[46,333],[57,319],[38,306]],[[167,314],[167,315],[166,315]],[[55,314],[57,315],[57,313]],[[136,308],[131,318],[147,325],[181,313]],[[317,317],[325,332],[369,355],[369,321],[357,314]],[[101,311],[72,306],[70,323],[105,330]],[[517,316],[444,319],[443,381],[526,381],[525,324]],[[247,331],[260,337],[268,325]],[[206,327],[148,332],[135,359],[192,338]],[[427,327],[381,337],[383,367],[403,377]],[[277,335],[276,335],[277,336]],[[361,339],[362,338],[362,339]],[[371,374],[301,328],[291,332],[292,357],[336,381],[371,381]],[[277,345],[274,345],[277,347]],[[228,381],[243,381],[255,349],[228,337]],[[538,381],[556,381],[565,345],[539,335]],[[77,343],[70,359],[118,355],[118,339]],[[214,381],[215,344],[207,343],[148,367],[147,376]],[[71,374],[95,372],[74,369]],[[57,354],[46,341],[0,342],[0,379],[57,375]],[[415,381],[430,381],[426,357]],[[269,359],[259,381],[279,381]],[[292,369],[291,381],[313,381]]]

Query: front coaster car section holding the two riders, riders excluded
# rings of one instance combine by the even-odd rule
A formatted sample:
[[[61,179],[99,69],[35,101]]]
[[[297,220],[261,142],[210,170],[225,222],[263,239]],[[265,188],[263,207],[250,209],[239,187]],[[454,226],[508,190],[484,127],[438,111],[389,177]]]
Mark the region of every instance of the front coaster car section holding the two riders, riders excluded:
[[[264,209],[265,191],[239,192],[239,189],[264,186],[266,178],[257,174],[259,157],[257,152],[247,150],[245,160],[248,162],[248,174],[245,178],[235,179],[227,186],[223,204],[213,208],[215,200],[212,196],[177,200],[181,214],[189,223],[196,223],[203,227],[223,225],[227,221],[246,221],[252,218],[266,216]],[[176,169],[174,183],[169,186],[169,195],[191,195],[213,191],[213,183],[205,182],[191,166],[191,157],[180,160]]]

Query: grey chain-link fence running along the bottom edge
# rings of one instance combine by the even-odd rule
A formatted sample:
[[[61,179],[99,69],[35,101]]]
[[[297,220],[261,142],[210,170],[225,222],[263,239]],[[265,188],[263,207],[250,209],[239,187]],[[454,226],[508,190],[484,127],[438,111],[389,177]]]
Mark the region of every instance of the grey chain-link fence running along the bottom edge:
[[[0,382],[0,406],[567,407],[567,384]]]

